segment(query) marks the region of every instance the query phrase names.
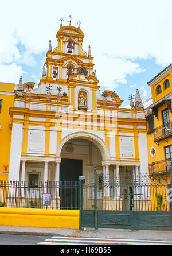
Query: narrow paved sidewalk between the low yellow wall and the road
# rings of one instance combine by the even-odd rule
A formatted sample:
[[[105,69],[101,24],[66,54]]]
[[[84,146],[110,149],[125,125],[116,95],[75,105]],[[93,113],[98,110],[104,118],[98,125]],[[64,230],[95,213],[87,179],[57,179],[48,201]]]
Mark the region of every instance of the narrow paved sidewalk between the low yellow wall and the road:
[[[158,241],[171,241],[172,231],[148,231],[148,230],[115,230],[110,228],[85,228],[81,230],[69,228],[47,227],[21,227],[0,226],[0,234],[22,235],[46,235],[46,236],[76,236],[90,238],[119,238],[119,239],[147,239]]]

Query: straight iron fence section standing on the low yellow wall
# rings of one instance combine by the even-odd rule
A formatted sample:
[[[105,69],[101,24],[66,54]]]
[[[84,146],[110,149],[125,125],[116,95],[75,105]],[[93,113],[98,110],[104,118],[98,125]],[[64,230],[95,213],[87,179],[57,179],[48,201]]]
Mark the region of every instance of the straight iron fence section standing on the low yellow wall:
[[[18,208],[78,209],[77,181],[0,181],[0,206]]]

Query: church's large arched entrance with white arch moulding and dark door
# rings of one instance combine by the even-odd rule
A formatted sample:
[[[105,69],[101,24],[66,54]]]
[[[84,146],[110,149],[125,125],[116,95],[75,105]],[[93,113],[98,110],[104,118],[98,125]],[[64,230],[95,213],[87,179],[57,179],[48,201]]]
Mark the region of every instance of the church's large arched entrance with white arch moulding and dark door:
[[[60,156],[59,156],[60,155]],[[85,184],[93,182],[93,167],[96,166],[97,174],[103,176],[102,161],[109,157],[107,145],[103,139],[91,133],[72,133],[64,137],[58,145],[57,157],[60,162],[60,183],[79,181],[79,176],[85,176]],[[60,191],[61,208],[69,202],[70,208],[77,208],[79,203],[77,189],[71,189],[62,194]],[[64,207],[65,208],[65,207]]]

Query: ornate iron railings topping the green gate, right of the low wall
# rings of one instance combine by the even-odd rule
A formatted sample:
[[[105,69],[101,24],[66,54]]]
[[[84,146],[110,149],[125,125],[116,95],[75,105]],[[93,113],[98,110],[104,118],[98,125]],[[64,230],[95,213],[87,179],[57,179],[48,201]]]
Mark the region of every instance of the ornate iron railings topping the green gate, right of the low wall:
[[[83,185],[82,210],[96,207],[104,211],[170,211],[167,180],[159,183],[148,174],[127,179],[128,176],[102,177],[97,180],[96,196],[94,183]]]

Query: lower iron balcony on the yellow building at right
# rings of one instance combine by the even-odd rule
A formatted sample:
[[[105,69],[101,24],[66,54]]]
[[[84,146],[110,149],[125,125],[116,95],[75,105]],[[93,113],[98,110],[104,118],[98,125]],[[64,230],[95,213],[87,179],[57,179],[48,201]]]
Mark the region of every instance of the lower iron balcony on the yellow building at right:
[[[150,176],[161,176],[169,174],[172,159],[152,162],[148,165]]]

